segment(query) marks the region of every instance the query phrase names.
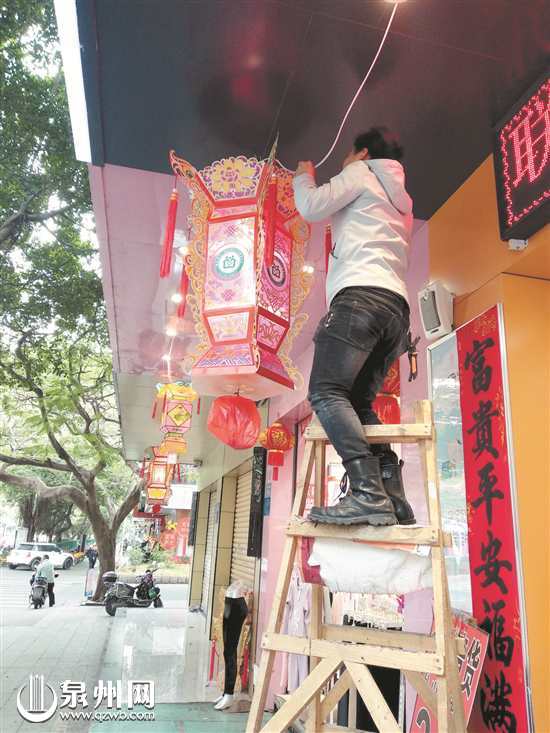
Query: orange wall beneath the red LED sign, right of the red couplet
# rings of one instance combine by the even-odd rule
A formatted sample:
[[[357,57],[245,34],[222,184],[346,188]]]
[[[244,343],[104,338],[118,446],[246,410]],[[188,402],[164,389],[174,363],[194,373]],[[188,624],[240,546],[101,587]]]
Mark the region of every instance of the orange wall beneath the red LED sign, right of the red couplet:
[[[504,309],[535,730],[550,731],[550,227],[523,252],[500,240],[492,157],[428,222],[430,280],[459,326]]]

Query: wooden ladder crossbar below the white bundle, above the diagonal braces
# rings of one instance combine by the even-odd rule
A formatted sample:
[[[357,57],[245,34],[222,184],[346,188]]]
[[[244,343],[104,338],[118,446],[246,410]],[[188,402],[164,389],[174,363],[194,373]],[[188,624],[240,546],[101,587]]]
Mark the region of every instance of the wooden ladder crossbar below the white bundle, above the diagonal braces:
[[[381,645],[349,644],[346,642],[309,639],[266,632],[262,637],[262,649],[325,659],[338,656],[345,663],[375,664],[391,669],[408,669],[413,672],[443,673],[443,656],[432,652],[392,649]]]

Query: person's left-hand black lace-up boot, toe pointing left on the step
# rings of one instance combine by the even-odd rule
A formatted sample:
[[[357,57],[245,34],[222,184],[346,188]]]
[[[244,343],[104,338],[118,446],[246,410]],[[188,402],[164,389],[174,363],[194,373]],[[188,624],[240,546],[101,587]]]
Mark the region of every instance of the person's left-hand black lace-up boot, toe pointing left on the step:
[[[393,505],[384,490],[376,456],[346,461],[350,490],[336,506],[312,507],[309,519],[321,524],[396,524]]]

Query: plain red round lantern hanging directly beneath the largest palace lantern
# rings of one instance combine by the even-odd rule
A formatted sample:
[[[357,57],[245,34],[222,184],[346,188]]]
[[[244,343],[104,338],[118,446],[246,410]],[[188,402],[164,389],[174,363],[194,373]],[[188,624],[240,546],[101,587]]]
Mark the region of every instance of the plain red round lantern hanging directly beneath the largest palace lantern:
[[[262,420],[252,400],[240,395],[217,397],[208,414],[208,430],[222,443],[244,450],[258,440]]]

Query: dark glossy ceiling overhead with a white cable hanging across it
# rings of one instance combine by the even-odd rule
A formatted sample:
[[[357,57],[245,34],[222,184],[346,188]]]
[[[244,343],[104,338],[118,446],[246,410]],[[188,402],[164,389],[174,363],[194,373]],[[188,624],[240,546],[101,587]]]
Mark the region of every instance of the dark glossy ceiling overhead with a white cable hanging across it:
[[[93,162],[168,172],[263,156],[319,160],[390,16],[385,0],[78,0]],[[415,216],[429,218],[491,152],[491,126],[550,56],[548,0],[408,0],[333,157],[394,129]]]

